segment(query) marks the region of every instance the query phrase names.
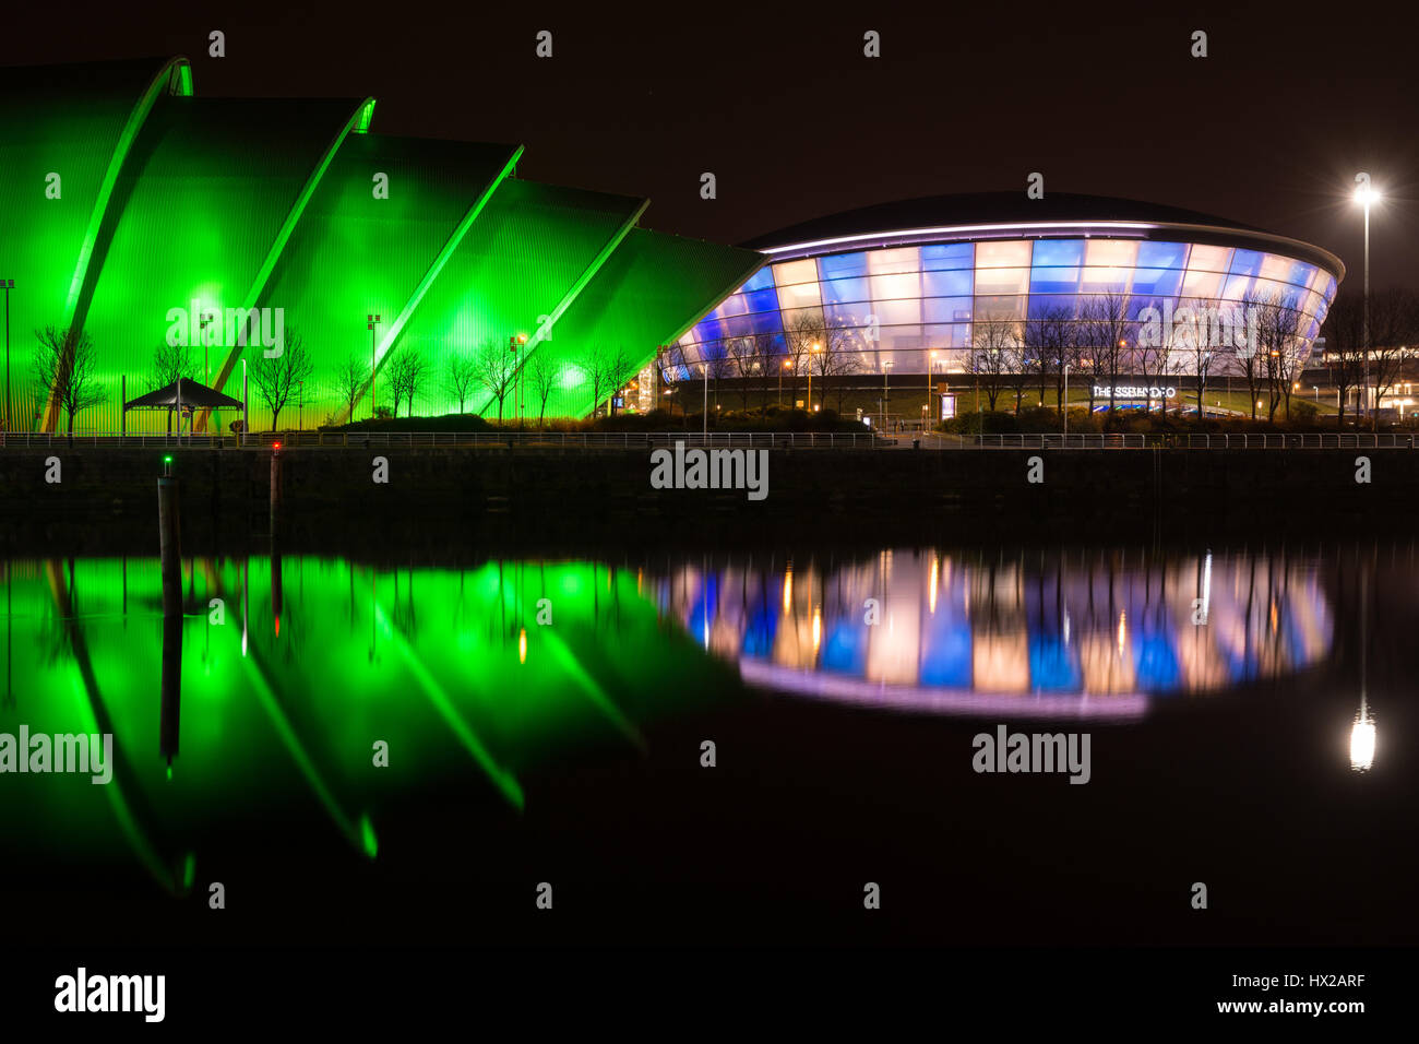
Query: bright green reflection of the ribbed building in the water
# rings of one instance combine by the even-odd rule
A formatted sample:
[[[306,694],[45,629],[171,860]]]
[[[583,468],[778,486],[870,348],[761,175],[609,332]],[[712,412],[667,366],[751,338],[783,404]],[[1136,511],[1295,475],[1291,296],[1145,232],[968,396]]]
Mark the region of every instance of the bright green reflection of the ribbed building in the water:
[[[9,776],[9,837],[68,864],[131,849],[183,892],[227,810],[304,804],[375,858],[392,795],[475,777],[519,811],[538,761],[643,750],[641,723],[717,680],[643,575],[600,564],[196,560],[183,585],[165,628],[156,560],[9,565],[0,732],[112,733],[116,761],[109,785]]]

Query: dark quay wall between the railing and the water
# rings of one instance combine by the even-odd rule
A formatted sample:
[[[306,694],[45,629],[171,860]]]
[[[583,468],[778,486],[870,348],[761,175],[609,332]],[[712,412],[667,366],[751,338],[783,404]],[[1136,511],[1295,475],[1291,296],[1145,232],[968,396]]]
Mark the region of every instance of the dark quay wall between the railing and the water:
[[[1409,533],[1419,509],[1419,450],[1406,449],[768,453],[768,496],[751,500],[744,489],[654,489],[646,449],[285,449],[282,543],[1352,538]],[[268,538],[268,450],[55,445],[0,450],[0,541],[10,553],[156,553],[165,455],[182,480],[184,553]]]

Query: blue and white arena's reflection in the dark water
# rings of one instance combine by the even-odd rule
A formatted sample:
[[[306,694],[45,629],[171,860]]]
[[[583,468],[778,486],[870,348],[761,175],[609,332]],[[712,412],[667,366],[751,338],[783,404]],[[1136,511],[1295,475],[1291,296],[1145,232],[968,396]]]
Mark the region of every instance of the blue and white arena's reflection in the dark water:
[[[1304,670],[1332,639],[1314,565],[1266,554],[891,550],[687,565],[658,598],[752,683],[944,713],[1130,717]]]

